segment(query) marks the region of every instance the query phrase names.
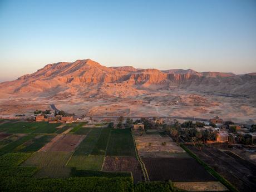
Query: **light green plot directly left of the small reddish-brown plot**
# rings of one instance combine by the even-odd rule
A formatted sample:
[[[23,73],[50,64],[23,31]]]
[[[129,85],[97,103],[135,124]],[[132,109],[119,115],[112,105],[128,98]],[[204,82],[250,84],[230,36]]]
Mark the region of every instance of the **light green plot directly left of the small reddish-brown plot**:
[[[103,162],[102,155],[74,155],[67,165],[78,170],[101,170]]]

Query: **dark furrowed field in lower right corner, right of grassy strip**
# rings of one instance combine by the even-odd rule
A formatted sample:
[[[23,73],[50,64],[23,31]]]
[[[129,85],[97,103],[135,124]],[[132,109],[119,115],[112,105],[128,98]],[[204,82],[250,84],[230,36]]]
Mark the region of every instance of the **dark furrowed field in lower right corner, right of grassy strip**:
[[[186,145],[188,149],[216,172],[221,174],[240,191],[253,191],[256,188],[256,166],[230,151],[221,151],[215,147],[199,150],[193,145]]]

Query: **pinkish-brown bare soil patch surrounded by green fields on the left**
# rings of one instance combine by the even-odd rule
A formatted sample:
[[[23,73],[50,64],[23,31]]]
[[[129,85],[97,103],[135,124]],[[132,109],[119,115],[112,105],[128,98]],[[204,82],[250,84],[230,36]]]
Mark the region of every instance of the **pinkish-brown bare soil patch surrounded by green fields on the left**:
[[[75,151],[85,135],[57,135],[51,142],[46,144],[40,151]]]

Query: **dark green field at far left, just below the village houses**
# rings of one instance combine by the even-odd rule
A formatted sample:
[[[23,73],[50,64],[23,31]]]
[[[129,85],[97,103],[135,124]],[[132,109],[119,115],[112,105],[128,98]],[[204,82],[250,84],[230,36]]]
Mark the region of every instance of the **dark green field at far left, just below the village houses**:
[[[38,133],[51,134],[57,131],[56,127],[60,124],[48,124],[48,122],[7,122],[0,125],[1,132],[7,133]]]

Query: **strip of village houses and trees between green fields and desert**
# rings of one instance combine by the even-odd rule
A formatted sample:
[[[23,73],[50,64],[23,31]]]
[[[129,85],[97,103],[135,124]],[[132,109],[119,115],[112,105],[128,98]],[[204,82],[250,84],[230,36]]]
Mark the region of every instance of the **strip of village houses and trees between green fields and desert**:
[[[232,121],[224,121],[216,116],[209,121],[185,121],[170,118],[127,118],[124,117],[84,117],[67,114],[64,111],[38,111],[31,115],[32,121],[48,122],[49,124],[73,122],[87,122],[87,124],[99,124],[102,122],[114,123],[115,129],[128,128],[134,130],[164,130],[169,132],[171,137],[178,138],[181,142],[201,141],[204,143],[229,143],[229,144],[256,144],[256,125],[246,127],[244,125],[234,124]],[[134,121],[135,120],[135,121]],[[126,126],[125,126],[126,125]],[[177,131],[173,131],[177,130]],[[178,140],[177,140],[178,141]]]

